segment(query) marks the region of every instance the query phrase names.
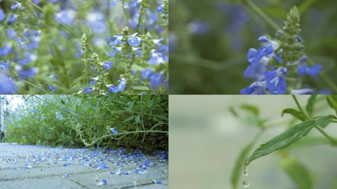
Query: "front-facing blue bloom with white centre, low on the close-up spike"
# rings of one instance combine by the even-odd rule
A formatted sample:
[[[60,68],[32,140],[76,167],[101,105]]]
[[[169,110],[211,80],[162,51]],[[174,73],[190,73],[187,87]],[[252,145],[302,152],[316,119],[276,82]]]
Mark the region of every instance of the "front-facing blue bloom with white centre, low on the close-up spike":
[[[287,84],[283,74],[287,73],[287,68],[279,67],[272,71],[265,72],[266,86],[272,94],[284,94],[287,89]]]

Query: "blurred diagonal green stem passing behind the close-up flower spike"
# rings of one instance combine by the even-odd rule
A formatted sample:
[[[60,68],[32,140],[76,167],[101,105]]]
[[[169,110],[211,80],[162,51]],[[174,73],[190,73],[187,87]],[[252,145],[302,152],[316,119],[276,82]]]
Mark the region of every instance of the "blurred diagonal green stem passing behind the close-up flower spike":
[[[245,0],[246,3],[258,14],[260,15],[263,19],[266,20],[266,22],[272,27],[274,28],[276,31],[282,31],[281,28],[274,22],[272,21],[269,16],[267,14],[265,14],[252,0]],[[314,65],[313,61],[309,58],[308,55],[306,55],[308,57],[308,64],[310,66]],[[326,75],[324,75],[324,73],[320,72],[319,76],[323,79],[323,81],[335,92],[337,93],[337,86],[336,84]]]

